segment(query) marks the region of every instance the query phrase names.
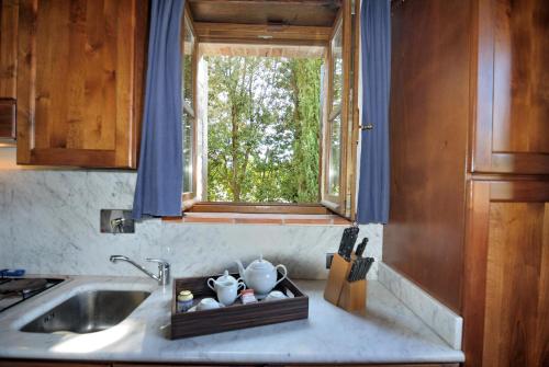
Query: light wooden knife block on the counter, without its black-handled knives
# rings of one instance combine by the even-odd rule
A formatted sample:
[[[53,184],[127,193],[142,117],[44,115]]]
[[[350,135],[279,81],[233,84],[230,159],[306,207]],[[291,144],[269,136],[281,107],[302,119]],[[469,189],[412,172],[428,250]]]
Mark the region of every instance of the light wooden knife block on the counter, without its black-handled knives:
[[[339,254],[334,254],[324,289],[324,299],[347,311],[363,311],[366,310],[366,280],[347,280],[354,259],[347,262]]]

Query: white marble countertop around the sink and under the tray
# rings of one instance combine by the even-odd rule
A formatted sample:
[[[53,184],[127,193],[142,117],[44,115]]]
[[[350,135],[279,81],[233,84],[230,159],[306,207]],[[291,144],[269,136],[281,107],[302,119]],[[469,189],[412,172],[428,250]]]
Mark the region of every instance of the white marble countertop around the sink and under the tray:
[[[309,320],[171,341],[171,288],[142,277],[76,276],[0,313],[0,358],[171,363],[458,363],[455,351],[378,282],[366,316],[326,302],[323,280],[298,280],[310,296]],[[153,294],[123,322],[89,334],[24,333],[19,329],[87,289]]]

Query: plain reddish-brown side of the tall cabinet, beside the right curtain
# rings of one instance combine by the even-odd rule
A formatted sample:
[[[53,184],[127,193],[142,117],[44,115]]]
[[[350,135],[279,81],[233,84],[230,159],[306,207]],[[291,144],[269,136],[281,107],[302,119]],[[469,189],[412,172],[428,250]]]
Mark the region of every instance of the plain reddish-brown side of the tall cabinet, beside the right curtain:
[[[383,261],[457,312],[470,101],[469,4],[426,0],[393,5],[391,211],[383,234]]]

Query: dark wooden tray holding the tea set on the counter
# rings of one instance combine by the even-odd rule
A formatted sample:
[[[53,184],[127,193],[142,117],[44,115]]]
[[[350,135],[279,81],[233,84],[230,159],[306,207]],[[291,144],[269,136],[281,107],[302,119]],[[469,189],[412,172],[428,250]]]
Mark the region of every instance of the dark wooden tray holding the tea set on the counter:
[[[231,275],[235,278],[239,277],[238,274]],[[213,334],[309,318],[309,297],[288,278],[280,282],[274,289],[290,296],[289,298],[248,305],[242,305],[237,300],[237,303],[214,310],[177,312],[177,295],[181,290],[192,291],[194,305],[205,297],[215,298],[215,293],[208,287],[206,280],[217,276],[173,279],[171,339]],[[279,273],[278,276],[280,277],[281,274]]]

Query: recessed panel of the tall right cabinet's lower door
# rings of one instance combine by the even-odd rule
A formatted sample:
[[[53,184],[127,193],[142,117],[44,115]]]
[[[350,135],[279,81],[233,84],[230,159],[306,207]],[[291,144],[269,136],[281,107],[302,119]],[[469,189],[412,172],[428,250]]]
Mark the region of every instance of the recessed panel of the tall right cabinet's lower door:
[[[549,364],[549,204],[492,203],[483,366]]]

